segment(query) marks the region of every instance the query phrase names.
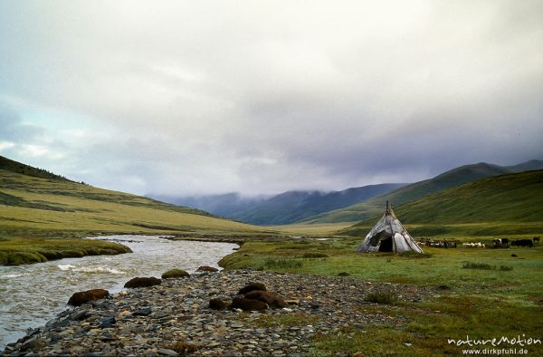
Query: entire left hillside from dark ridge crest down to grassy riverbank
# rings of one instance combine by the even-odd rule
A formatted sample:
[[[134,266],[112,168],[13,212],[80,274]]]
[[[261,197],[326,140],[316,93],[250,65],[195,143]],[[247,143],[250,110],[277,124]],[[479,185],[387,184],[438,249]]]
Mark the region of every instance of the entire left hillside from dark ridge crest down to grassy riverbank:
[[[66,238],[176,233],[266,232],[201,210],[93,188],[0,157],[0,265],[124,251],[119,245]]]

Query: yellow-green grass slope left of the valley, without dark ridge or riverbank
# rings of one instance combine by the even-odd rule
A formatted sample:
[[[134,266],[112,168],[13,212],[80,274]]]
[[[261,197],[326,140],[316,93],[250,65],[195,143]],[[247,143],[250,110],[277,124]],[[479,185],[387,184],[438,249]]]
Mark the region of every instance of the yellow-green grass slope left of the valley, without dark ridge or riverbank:
[[[0,169],[0,231],[259,233],[255,227],[150,198]]]

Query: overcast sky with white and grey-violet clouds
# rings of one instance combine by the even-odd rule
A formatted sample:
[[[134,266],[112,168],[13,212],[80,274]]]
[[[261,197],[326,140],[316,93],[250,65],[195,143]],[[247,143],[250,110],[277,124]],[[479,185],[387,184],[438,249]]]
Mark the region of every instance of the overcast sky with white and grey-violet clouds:
[[[0,2],[0,155],[136,194],[543,159],[543,2]]]

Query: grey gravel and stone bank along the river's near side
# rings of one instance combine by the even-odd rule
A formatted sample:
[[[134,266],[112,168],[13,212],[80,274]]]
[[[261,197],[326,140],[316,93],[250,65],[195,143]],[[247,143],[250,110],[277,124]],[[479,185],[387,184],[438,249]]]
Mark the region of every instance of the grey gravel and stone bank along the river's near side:
[[[209,307],[211,299],[232,300],[249,283],[266,285],[289,306],[260,312]],[[317,335],[349,338],[350,328],[364,330],[368,323],[406,323],[401,315],[364,312],[367,294],[375,292],[420,301],[432,289],[340,276],[200,272],[67,309],[8,344],[2,356],[300,356]]]

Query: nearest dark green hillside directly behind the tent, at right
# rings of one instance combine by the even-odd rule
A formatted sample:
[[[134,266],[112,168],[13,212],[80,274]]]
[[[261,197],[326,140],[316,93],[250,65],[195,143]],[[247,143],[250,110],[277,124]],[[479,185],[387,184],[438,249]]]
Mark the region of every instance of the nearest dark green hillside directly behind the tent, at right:
[[[538,235],[543,232],[543,170],[482,178],[395,207],[414,235]],[[341,231],[361,236],[372,217]]]

